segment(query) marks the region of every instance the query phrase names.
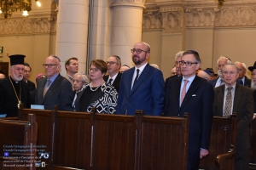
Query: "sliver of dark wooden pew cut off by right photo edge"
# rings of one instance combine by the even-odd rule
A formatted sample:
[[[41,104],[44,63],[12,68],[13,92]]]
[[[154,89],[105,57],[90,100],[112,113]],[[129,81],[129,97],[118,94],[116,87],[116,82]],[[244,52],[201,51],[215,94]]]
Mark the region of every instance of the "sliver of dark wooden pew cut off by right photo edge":
[[[253,120],[250,126],[251,150],[250,150],[250,167],[256,169],[256,119]]]

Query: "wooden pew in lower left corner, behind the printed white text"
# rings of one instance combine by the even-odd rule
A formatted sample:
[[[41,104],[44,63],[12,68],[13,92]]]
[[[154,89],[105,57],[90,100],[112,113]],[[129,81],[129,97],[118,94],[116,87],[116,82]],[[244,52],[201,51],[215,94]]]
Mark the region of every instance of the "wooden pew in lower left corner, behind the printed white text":
[[[1,170],[36,169],[34,163],[37,151],[33,150],[33,146],[37,144],[38,126],[34,115],[28,115],[27,120],[0,120]]]

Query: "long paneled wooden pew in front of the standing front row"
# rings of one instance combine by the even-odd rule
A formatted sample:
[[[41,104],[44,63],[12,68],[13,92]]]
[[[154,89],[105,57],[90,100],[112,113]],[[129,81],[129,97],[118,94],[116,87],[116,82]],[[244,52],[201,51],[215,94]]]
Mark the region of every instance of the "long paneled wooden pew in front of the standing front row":
[[[26,119],[27,113],[34,112],[38,119],[38,141],[40,133],[48,133],[48,140],[53,143],[49,169],[187,168],[188,117],[143,116],[142,111],[137,111],[136,116],[124,116],[96,114],[96,110],[49,113],[27,109],[20,110],[20,117]],[[43,124],[52,133],[46,133]],[[154,159],[155,156],[159,158]]]

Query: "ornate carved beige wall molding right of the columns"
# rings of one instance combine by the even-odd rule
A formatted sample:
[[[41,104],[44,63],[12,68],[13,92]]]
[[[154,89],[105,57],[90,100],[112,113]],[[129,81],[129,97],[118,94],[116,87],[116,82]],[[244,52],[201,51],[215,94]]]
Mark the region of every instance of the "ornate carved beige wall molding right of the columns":
[[[189,27],[256,26],[256,0],[145,3],[143,30],[182,32]],[[183,21],[185,24],[183,24]]]

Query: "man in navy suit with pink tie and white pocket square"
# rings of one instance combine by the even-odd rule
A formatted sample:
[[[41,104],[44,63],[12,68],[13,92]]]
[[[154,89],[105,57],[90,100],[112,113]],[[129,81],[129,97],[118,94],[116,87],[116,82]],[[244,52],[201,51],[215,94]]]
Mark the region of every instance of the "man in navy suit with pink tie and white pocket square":
[[[212,131],[212,85],[195,76],[201,59],[193,50],[183,53],[180,61],[183,77],[175,77],[166,85],[165,116],[183,116],[189,112],[188,169],[197,170],[200,158],[208,155]]]

